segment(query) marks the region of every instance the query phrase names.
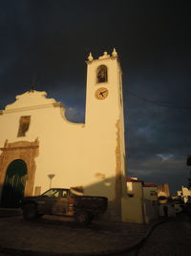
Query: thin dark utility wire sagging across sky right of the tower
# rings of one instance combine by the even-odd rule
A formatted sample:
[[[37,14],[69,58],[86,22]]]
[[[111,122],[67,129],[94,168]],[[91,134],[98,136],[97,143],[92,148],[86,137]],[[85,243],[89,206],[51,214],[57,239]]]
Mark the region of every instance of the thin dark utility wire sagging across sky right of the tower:
[[[182,105],[177,105],[177,104],[170,103],[170,102],[152,101],[152,100],[149,100],[149,99],[142,98],[142,97],[138,96],[137,94],[135,94],[135,93],[133,93],[129,90],[127,90],[127,92],[130,95],[138,98],[139,100],[148,102],[148,103],[153,104],[153,105],[159,105],[159,106],[171,107],[171,108],[179,108],[179,109],[191,109],[191,106],[182,106]]]

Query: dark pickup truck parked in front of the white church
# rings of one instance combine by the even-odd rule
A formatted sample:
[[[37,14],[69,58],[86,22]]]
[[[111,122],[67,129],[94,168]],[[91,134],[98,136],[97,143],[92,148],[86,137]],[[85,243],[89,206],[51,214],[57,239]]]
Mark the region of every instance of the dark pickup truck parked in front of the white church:
[[[40,196],[23,198],[23,217],[32,220],[43,215],[58,215],[88,224],[107,210],[107,198],[76,194],[72,189],[52,188]]]

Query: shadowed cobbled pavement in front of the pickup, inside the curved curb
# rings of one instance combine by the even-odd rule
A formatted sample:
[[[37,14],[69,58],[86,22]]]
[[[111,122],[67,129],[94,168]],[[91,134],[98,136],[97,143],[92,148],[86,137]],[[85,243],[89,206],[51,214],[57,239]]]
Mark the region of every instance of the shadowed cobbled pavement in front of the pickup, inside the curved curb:
[[[0,218],[0,251],[41,256],[115,255],[137,246],[159,222],[93,222],[81,227],[48,217],[32,222],[22,216],[5,217]]]

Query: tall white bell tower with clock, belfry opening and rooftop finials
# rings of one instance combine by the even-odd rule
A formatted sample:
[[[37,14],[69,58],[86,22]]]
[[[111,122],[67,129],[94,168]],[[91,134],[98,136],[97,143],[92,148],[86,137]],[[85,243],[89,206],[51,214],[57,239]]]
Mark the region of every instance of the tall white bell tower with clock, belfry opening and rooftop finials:
[[[92,193],[109,198],[112,219],[121,220],[126,195],[122,71],[116,49],[96,59],[90,53],[86,63],[85,127],[93,153],[90,172],[97,184]]]

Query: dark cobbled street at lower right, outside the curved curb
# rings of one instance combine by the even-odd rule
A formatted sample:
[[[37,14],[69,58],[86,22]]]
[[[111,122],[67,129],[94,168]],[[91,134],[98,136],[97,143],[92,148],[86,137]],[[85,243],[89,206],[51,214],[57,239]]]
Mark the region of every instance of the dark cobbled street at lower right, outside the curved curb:
[[[129,254],[128,254],[129,255]],[[137,256],[191,256],[191,222],[180,214],[157,226]]]

